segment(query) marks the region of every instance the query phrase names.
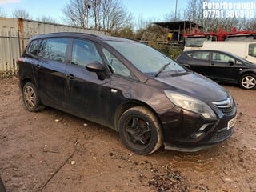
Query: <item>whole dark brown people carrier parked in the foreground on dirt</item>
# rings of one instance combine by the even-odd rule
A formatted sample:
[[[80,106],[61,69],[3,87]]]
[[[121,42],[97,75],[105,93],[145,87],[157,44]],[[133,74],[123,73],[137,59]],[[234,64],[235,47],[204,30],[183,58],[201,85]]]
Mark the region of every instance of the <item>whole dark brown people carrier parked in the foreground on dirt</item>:
[[[137,154],[195,151],[229,138],[236,106],[218,84],[150,46],[80,33],[31,38],[19,58],[27,110],[50,106],[117,130]]]

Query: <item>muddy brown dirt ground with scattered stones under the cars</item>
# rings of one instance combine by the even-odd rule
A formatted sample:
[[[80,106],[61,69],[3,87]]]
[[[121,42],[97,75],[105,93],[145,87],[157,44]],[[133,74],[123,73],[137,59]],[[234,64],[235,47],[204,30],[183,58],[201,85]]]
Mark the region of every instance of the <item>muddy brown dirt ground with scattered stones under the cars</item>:
[[[256,191],[256,90],[225,86],[233,136],[197,153],[126,150],[104,126],[46,108],[25,110],[18,78],[0,80],[0,176],[6,191]]]

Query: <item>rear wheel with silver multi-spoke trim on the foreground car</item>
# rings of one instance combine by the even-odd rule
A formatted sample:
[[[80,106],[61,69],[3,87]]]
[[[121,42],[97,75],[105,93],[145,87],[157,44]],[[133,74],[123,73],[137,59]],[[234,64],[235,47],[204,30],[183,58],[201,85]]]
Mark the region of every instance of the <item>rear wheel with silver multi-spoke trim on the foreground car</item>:
[[[31,112],[37,112],[42,110],[44,106],[40,102],[38,90],[31,82],[26,82],[22,89],[22,99],[26,106],[26,109]]]

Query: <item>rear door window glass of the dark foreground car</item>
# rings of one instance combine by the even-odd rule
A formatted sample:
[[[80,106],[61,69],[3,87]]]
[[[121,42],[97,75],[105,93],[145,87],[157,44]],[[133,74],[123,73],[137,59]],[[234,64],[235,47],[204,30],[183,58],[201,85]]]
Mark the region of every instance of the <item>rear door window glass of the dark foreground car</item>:
[[[68,38],[46,38],[42,40],[38,56],[64,62],[68,41]]]

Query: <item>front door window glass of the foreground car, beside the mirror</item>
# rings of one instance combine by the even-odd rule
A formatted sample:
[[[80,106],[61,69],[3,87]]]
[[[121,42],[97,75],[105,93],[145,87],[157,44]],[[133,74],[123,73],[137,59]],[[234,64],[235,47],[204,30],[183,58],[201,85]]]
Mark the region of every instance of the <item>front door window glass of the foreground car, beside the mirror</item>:
[[[90,62],[102,63],[102,58],[98,54],[94,43],[82,39],[74,39],[71,63],[78,66],[86,66]]]

